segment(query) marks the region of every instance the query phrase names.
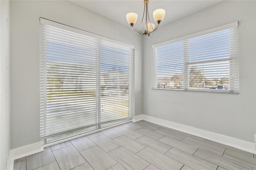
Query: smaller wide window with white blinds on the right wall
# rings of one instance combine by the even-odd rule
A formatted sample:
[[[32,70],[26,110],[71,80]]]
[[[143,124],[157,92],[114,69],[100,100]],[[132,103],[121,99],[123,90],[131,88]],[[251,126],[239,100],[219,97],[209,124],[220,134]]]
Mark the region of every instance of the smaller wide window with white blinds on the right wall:
[[[237,26],[152,45],[153,89],[238,94]]]

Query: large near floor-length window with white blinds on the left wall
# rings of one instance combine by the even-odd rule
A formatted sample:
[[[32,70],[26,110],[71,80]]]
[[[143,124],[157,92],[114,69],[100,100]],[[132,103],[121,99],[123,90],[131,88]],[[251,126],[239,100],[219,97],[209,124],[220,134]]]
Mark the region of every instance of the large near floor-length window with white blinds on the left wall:
[[[40,18],[40,138],[131,119],[134,47]]]

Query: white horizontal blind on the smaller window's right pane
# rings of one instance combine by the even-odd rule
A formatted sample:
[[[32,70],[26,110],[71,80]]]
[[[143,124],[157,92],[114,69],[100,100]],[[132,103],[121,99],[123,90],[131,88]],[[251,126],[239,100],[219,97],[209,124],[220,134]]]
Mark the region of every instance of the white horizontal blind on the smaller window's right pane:
[[[189,87],[238,93],[237,28],[188,40]]]

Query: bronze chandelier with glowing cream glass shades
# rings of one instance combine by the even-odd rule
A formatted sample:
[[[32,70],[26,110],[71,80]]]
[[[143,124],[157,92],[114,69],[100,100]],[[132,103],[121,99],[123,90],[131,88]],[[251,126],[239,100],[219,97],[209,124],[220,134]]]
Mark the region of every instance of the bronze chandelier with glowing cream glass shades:
[[[145,14],[145,11],[146,11],[146,14]],[[140,27],[141,27],[142,22],[143,22],[143,19],[144,19],[144,16],[145,16],[145,19],[146,19],[146,21],[145,21],[145,30],[143,32],[139,32]],[[144,0],[144,11],[143,11],[142,20],[140,22],[140,26],[139,26],[138,30],[136,31],[133,28],[134,24],[137,21],[138,14],[136,14],[135,12],[130,12],[130,13],[126,14],[126,20],[127,20],[128,24],[130,24],[130,26],[131,26],[131,28],[134,32],[136,32],[137,34],[144,34],[145,36],[149,37],[152,32],[154,32],[158,29],[160,23],[164,19],[164,16],[165,16],[165,10],[164,9],[160,8],[160,9],[154,10],[153,18],[156,21],[156,23],[158,24],[157,27],[155,28],[155,24],[151,23],[150,19],[149,19],[148,0]]]

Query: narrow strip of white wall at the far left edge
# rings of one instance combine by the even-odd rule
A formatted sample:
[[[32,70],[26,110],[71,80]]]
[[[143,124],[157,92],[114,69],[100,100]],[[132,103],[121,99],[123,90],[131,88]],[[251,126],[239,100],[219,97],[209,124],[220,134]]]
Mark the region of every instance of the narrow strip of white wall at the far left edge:
[[[8,19],[8,22],[6,22]],[[10,150],[10,1],[0,1],[0,169],[6,169]]]

